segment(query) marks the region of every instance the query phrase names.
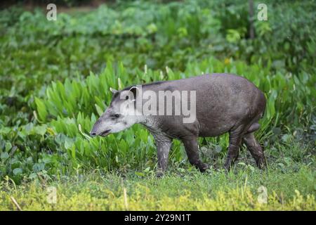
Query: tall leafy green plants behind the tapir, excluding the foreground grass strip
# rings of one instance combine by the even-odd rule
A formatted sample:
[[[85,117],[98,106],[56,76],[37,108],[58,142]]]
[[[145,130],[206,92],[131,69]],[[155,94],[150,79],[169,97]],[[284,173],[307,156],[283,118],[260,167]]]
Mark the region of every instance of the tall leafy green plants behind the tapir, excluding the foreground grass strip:
[[[56,21],[46,20],[46,5],[2,9],[0,179],[27,184],[96,169],[147,176],[157,154],[146,129],[87,135],[110,103],[110,86],[230,72],[268,99],[256,136],[269,169],[308,176],[299,191],[314,196],[316,2],[265,1],[263,21],[258,3],[253,39],[248,1],[111,1],[84,10],[64,7],[84,1],[60,1]],[[199,146],[220,171],[228,136],[200,139]],[[179,141],[169,163],[176,173],[192,169]],[[244,146],[235,169],[257,172]]]

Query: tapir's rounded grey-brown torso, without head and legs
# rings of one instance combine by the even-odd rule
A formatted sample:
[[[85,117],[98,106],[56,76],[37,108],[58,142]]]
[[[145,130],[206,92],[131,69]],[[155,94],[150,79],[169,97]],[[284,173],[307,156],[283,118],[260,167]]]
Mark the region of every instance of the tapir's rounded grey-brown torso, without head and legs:
[[[235,75],[202,75],[145,84],[142,88],[143,92],[147,89],[155,92],[196,91],[195,122],[183,123],[183,115],[152,116],[156,124],[154,129],[177,139],[185,136],[219,136],[240,124],[257,122],[265,110],[263,93],[247,79]]]

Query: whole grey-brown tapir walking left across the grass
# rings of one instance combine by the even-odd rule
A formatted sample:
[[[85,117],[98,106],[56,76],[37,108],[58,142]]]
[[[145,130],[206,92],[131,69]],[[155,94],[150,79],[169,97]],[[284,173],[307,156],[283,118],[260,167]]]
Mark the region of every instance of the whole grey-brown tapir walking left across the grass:
[[[167,169],[173,139],[182,141],[190,164],[204,172],[209,165],[199,158],[198,137],[220,136],[227,132],[229,146],[225,169],[229,170],[237,160],[241,143],[246,144],[259,168],[266,164],[263,148],[254,136],[254,131],[260,127],[258,120],[265,111],[265,95],[244,77],[214,73],[111,91],[112,101],[93,125],[91,136],[107,136],[133,124],[143,124],[157,146],[157,176],[162,176]],[[164,99],[151,99],[149,104],[155,94],[165,94]],[[168,102],[166,98],[170,95]],[[148,108],[144,110],[138,105]],[[185,121],[187,112],[186,115],[179,113],[183,105],[195,109],[190,120]]]

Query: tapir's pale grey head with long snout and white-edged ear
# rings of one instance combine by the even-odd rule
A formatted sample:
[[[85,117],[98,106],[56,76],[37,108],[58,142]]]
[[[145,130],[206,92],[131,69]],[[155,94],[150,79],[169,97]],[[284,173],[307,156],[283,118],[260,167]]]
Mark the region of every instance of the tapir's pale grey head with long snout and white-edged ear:
[[[136,86],[122,91],[110,89],[113,94],[110,106],[93,125],[91,136],[107,136],[140,122],[140,115],[136,115],[136,89]]]

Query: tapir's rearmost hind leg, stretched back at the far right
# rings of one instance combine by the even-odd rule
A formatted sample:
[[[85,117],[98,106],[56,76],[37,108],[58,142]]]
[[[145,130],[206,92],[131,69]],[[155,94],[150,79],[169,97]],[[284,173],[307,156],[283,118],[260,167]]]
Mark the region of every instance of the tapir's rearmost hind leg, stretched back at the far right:
[[[256,140],[254,133],[245,134],[243,137],[244,143],[248,150],[250,151],[252,157],[256,160],[256,164],[259,168],[263,168],[266,165],[265,162],[265,155],[263,153],[263,149],[261,148],[260,144]]]

